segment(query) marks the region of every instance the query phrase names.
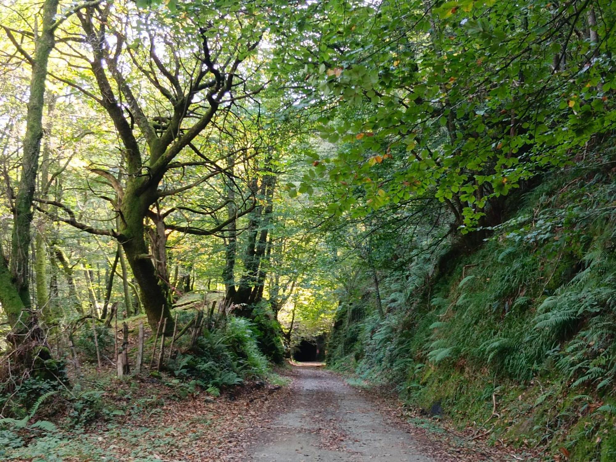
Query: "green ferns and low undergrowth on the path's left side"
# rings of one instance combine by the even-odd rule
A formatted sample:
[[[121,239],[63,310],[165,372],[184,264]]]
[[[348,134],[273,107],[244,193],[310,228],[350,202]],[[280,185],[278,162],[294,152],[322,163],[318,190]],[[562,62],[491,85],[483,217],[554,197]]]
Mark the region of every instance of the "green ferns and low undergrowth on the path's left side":
[[[193,316],[182,311],[178,318],[185,324]],[[288,383],[270,369],[257,344],[256,327],[245,318],[229,317],[218,328],[204,329],[192,346],[190,336],[180,338],[164,370],[152,370],[148,376],[146,358],[142,374],[124,379],[115,378],[114,368],[95,369],[94,336],[89,333],[90,329],[78,337],[87,360],[82,365],[83,376],[70,383],[27,378],[14,384],[10,393],[0,395],[1,460],[103,458],[87,436],[94,423],[111,428],[126,415],[156,415],[168,400],[200,394],[215,399],[249,380],[265,379],[280,386]],[[100,328],[98,333],[99,347],[108,348],[108,330]],[[130,437],[136,442],[140,438],[132,433]],[[155,460],[153,456],[140,457],[137,451],[134,460]]]

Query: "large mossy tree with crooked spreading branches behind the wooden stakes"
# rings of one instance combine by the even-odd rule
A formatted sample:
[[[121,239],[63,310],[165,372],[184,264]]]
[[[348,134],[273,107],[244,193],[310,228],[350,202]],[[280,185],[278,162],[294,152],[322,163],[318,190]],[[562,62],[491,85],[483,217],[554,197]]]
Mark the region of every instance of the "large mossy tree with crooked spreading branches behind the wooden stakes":
[[[181,12],[178,5],[176,13],[161,12],[160,18],[148,16],[145,21],[138,19],[142,13],[131,2],[102,2],[77,14],[87,44],[79,52],[92,81],[79,84],[62,79],[94,99],[118,133],[124,180],[112,169],[91,167],[115,191],[117,199],[111,203],[118,214],[118,229],[97,229],[79,222],[67,205],[39,200],[57,207],[58,213],[47,212],[55,219],[120,242],[150,326],[167,318],[169,331],[173,330],[166,296],[169,281],[161,270],[165,232],[213,235],[228,222],[212,229],[168,225],[164,218],[177,208],[160,211],[161,204],[227,173],[195,142],[204,131],[216,132],[225,117],[233,116],[239,101],[253,97],[265,85],[257,77],[258,65],[247,62],[267,26],[258,15],[264,6],[221,4],[213,10],[206,6],[210,5],[182,4]],[[225,9],[230,9],[229,14]],[[190,184],[160,188],[163,181],[169,184],[166,178],[171,179],[175,171],[186,168],[205,168],[205,172]],[[249,204],[240,205],[238,216],[251,209]],[[148,243],[147,220],[158,221],[156,251]]]

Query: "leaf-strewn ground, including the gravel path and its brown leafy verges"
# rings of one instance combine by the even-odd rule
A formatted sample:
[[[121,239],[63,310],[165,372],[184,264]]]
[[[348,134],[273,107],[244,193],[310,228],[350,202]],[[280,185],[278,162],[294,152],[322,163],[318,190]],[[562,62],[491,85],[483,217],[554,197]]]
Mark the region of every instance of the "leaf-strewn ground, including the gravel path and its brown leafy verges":
[[[213,399],[174,400],[147,380],[134,394],[163,403],[68,432],[53,461],[449,462],[537,460],[487,447],[433,419],[411,418],[395,395],[352,387],[320,363],[280,372],[288,386],[256,382]],[[148,401],[149,402],[149,401]],[[10,459],[15,460],[15,459]],[[31,460],[17,459],[17,460]]]

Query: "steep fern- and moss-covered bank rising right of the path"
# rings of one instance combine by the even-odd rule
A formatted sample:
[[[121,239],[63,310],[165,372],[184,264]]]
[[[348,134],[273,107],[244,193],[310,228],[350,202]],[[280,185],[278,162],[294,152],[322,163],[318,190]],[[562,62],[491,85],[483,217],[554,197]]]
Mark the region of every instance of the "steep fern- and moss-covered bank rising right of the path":
[[[389,271],[384,316],[365,277],[341,301],[330,365],[494,444],[616,460],[614,165],[565,168],[510,198],[516,213],[479,248]]]

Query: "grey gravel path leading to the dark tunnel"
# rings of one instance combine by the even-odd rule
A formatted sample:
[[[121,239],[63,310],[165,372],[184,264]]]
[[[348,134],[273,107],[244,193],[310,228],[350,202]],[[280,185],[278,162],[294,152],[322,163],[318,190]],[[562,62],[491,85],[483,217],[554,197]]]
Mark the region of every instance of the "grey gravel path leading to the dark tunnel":
[[[286,410],[249,448],[254,462],[436,462],[338,376],[303,363]]]

